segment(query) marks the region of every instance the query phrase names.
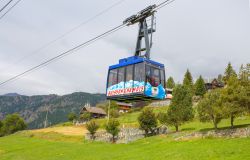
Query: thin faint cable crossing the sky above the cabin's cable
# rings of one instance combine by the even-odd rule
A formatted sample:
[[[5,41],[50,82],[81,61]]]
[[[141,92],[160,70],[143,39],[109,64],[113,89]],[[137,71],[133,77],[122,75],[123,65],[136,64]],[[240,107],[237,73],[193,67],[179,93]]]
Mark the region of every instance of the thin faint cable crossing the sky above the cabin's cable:
[[[21,0],[19,0],[19,1],[21,1]],[[27,55],[25,55],[25,56],[23,56],[21,59],[19,59],[19,60],[17,60],[16,62],[12,63],[11,66],[14,66],[14,65],[19,64],[20,62],[26,60],[28,57],[31,57],[31,56],[34,56],[34,55],[39,54],[42,50],[48,48],[49,46],[51,46],[52,44],[54,44],[54,43],[57,42],[58,40],[64,38],[65,36],[69,35],[70,33],[74,32],[75,30],[79,29],[80,27],[82,27],[82,26],[88,24],[88,23],[91,22],[92,20],[94,20],[94,19],[100,17],[101,15],[103,15],[103,14],[106,13],[106,12],[108,12],[108,11],[111,10],[112,8],[118,6],[119,4],[121,4],[121,3],[124,2],[124,1],[125,1],[125,0],[119,0],[118,2],[116,2],[116,3],[112,4],[111,6],[105,8],[105,9],[102,10],[101,12],[99,12],[99,13],[97,13],[96,15],[90,17],[89,19],[87,19],[87,20],[81,22],[79,25],[77,25],[77,26],[71,28],[71,29],[68,30],[67,32],[65,32],[65,33],[63,33],[62,35],[58,36],[57,38],[55,38],[55,39],[49,41],[48,43],[45,43],[44,45],[42,45],[42,46],[39,47],[38,49],[36,49],[36,50],[30,52],[29,54],[27,54]],[[0,19],[1,19],[1,17],[0,17]],[[6,67],[6,68],[9,68],[9,67]],[[1,70],[2,70],[2,71],[3,71],[3,70],[6,70],[6,68],[3,68],[3,69],[1,69]]]

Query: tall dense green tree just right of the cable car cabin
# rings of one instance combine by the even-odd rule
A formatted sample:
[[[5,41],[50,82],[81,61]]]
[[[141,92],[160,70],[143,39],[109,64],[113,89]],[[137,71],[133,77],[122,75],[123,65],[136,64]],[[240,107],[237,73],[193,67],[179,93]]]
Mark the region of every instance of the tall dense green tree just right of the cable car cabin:
[[[175,127],[179,126],[194,117],[192,108],[192,95],[189,89],[182,85],[177,85],[173,91],[173,99],[167,111],[167,123]]]

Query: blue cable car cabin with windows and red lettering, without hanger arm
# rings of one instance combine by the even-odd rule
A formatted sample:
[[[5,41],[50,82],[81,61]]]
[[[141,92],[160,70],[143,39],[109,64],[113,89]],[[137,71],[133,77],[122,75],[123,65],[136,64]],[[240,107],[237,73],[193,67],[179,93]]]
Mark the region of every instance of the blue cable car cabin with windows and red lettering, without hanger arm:
[[[164,65],[139,56],[120,59],[109,67],[106,95],[123,102],[165,99]]]

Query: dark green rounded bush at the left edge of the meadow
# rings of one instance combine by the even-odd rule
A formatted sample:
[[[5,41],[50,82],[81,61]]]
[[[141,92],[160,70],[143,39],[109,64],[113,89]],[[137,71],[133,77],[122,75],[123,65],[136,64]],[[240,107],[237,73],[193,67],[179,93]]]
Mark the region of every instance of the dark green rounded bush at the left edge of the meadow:
[[[9,135],[26,129],[27,125],[18,114],[7,115],[1,127],[1,135]]]

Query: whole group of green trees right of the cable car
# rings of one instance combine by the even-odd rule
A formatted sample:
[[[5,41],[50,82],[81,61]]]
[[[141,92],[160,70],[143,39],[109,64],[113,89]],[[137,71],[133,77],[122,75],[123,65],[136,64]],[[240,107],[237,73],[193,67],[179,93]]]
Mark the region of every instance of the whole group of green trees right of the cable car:
[[[192,120],[195,113],[201,122],[211,121],[217,129],[218,123],[230,118],[231,127],[236,117],[250,113],[250,64],[241,65],[237,75],[231,63],[228,63],[224,75],[218,76],[224,83],[223,88],[208,90],[202,76],[193,83],[187,70],[183,83],[175,84],[172,77],[167,80],[167,87],[173,88],[173,99],[167,113],[162,113],[161,122],[175,126]],[[197,106],[193,107],[192,98],[199,96]]]

